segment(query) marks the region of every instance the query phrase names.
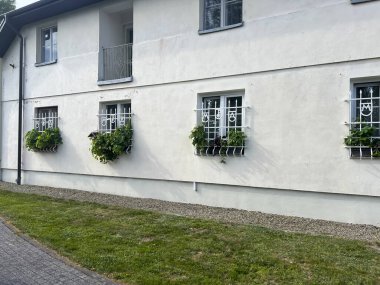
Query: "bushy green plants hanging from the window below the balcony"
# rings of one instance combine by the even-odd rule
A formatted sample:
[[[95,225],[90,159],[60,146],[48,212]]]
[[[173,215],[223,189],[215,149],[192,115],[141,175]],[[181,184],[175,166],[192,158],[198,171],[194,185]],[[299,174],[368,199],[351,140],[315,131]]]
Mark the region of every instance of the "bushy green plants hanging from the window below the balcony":
[[[91,153],[101,163],[114,161],[132,146],[132,137],[131,122],[112,133],[98,133],[91,139]]]

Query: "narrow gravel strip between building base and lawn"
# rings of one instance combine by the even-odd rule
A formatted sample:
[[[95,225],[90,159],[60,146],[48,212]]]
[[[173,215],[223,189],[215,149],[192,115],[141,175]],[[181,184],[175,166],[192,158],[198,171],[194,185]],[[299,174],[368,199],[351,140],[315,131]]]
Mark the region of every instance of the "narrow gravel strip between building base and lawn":
[[[308,233],[313,235],[328,235],[345,239],[380,243],[380,228],[371,225],[345,224],[324,220],[264,214],[261,212],[252,212],[237,209],[174,203],[154,199],[131,198],[80,190],[31,185],[20,186],[6,182],[0,182],[0,188],[12,192],[33,193],[66,200],[94,202],[104,205],[155,211],[184,217],[194,217],[229,223],[262,226],[288,232]]]

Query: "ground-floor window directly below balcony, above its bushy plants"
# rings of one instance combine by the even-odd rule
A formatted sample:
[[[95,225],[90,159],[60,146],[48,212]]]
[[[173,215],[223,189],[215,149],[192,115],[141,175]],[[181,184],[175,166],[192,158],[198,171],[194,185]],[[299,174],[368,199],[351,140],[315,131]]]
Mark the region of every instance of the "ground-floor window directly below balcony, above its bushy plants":
[[[130,102],[103,103],[100,108],[99,131],[110,133],[131,120]]]

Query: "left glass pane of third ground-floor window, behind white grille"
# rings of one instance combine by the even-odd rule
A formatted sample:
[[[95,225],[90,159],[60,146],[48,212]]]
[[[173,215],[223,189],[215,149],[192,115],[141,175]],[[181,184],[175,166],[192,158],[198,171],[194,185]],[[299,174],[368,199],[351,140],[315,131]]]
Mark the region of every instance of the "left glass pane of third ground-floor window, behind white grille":
[[[206,139],[213,145],[220,136],[220,97],[205,97],[202,100],[202,123],[205,126]]]

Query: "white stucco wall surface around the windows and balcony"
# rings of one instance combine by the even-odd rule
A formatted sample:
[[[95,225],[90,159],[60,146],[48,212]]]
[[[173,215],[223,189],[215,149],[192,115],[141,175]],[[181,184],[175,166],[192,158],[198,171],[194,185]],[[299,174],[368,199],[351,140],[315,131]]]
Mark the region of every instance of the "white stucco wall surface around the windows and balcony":
[[[126,186],[123,192],[118,186],[117,194],[378,224],[368,217],[380,206],[380,161],[350,160],[343,138],[351,82],[380,80],[380,50],[374,48],[380,44],[380,2],[243,2],[243,27],[200,36],[198,0],[134,1],[134,81],[106,87],[97,86],[99,19],[105,4],[25,27],[24,133],[33,126],[35,108],[58,106],[64,144],[55,154],[24,149],[24,183],[107,192],[104,184],[88,181],[104,177],[113,183],[120,177],[125,183],[140,181],[142,188],[140,193]],[[48,22],[58,26],[58,63],[35,67],[36,30]],[[9,67],[18,62],[17,47],[13,43],[3,59],[1,167],[7,181],[14,181],[17,164],[18,67]],[[195,156],[188,136],[196,124],[198,97],[227,90],[244,90],[250,128],[245,156],[221,164],[217,157]],[[132,153],[102,165],[91,157],[87,135],[97,128],[101,102],[126,99],[134,113]],[[146,181],[157,180],[211,185],[215,196],[192,193],[189,198],[181,187],[176,196],[174,186],[175,198],[165,189],[153,194],[148,188],[154,184]],[[296,207],[297,196],[288,190],[301,196],[314,193],[304,200],[309,210]],[[339,209],[352,208],[355,197],[373,200],[360,218],[352,210],[344,219],[334,216],[333,202],[326,204],[329,211],[320,208],[329,197],[339,200],[336,194],[343,197]],[[266,201],[280,197],[287,207],[252,202],[259,196]],[[245,198],[251,207],[242,205]],[[363,206],[367,198],[357,201]],[[314,206],[313,199],[319,201]]]

